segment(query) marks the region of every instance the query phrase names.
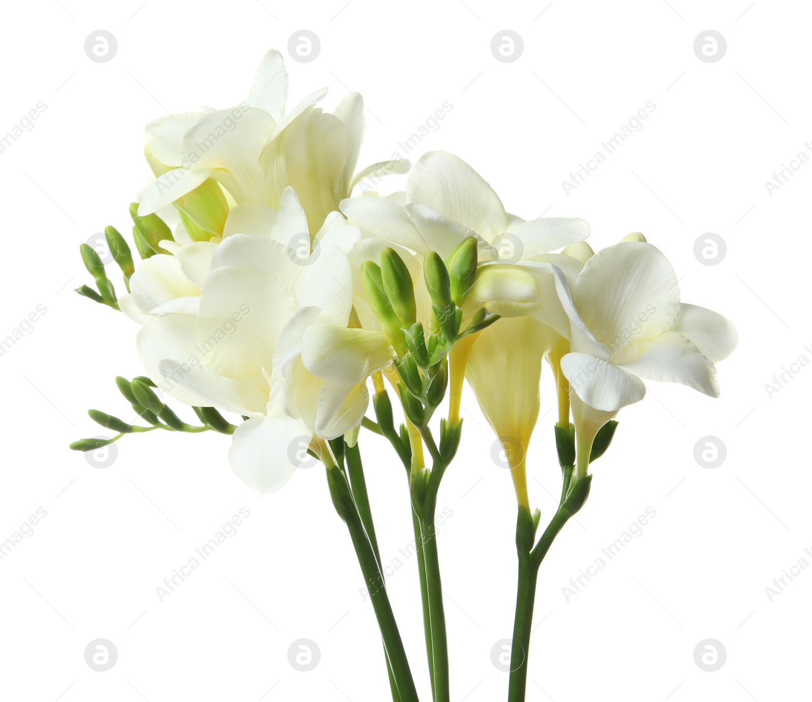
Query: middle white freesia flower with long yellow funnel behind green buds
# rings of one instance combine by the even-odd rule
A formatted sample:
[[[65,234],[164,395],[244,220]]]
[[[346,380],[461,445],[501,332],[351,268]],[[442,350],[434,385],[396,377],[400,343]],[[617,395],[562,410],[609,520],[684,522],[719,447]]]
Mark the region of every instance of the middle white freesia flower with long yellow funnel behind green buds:
[[[467,237],[477,238],[482,265],[464,305],[465,317],[485,306],[514,319],[500,320],[465,338],[452,351],[452,411],[458,409],[466,373],[503,441],[516,495],[526,503],[525,455],[538,419],[542,358],[569,331],[549,261],[572,275],[581,265],[575,258],[550,252],[585,239],[590,226],[577,218],[525,221],[507,213],[482,176],[442,151],[426,153],[415,164],[405,205],[365,197],[345,200],[341,209],[351,222],[379,239],[416,252],[418,261],[430,250],[445,258]],[[583,255],[584,249],[578,250]]]

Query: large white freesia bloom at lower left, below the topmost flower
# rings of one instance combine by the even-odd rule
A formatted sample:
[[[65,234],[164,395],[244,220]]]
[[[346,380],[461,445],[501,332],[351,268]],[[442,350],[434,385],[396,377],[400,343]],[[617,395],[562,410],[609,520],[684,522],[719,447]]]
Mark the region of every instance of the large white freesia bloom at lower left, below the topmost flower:
[[[348,324],[352,273],[345,250],[357,227],[333,213],[306,256],[282,243],[302,232],[309,248],[304,209],[289,188],[270,232],[235,234],[215,247],[196,309],[156,317],[137,338],[149,377],[168,394],[248,417],[229,457],[259,491],[289,480],[312,434],[338,437],[360,424],[366,409],[365,386],[353,373],[325,380],[309,372],[301,355],[311,329]]]

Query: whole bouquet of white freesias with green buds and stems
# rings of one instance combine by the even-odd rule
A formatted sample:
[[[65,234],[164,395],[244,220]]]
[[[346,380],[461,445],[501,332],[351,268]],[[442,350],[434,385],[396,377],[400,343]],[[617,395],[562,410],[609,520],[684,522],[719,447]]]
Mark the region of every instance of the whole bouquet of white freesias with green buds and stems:
[[[78,290],[140,325],[145,375],[116,382],[143,421],[91,410],[115,435],[71,448],[156,429],[231,434],[231,468],[258,492],[282,489],[308,454],[321,461],[378,619],[392,699],[415,702],[358,446],[361,429],[386,437],[408,477],[433,700],[448,702],[434,512],[462,436],[467,379],[516,490],[508,700],[524,700],[539,566],[589,497],[590,463],[607,450],[615,416],[643,398],[644,380],[717,397],[714,364],[736,346],[736,330],[680,301],[671,264],[643,235],[596,253],[584,220],[507,213],[451,153],[359,170],[363,100],[350,93],[330,114],[317,107],[325,94],[286,111],[287,73],[270,51],[240,105],[146,127],[155,180],[130,209],[141,261],[136,269],[108,226],[126,292],[114,290],[88,244],[81,253],[95,289]],[[405,192],[356,187],[406,172]],[[525,466],[545,359],[562,475],[546,526],[529,502]],[[192,406],[197,421],[180,419],[156,389]],[[437,421],[441,404],[447,416]]]

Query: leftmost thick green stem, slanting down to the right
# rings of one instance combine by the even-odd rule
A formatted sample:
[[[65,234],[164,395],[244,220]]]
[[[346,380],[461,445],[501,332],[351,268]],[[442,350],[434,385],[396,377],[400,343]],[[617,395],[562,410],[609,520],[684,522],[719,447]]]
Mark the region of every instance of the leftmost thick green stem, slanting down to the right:
[[[383,575],[378,566],[378,558],[369,542],[369,536],[361,521],[356,502],[352,497],[350,486],[343,472],[338,467],[327,468],[327,481],[330,485],[330,497],[339,517],[347,524],[355,548],[364,581],[369,590],[369,598],[378,619],[383,645],[391,665],[391,678],[394,678],[395,688],[402,702],[419,702],[417,689],[409,669],[403,640],[395,621]]]

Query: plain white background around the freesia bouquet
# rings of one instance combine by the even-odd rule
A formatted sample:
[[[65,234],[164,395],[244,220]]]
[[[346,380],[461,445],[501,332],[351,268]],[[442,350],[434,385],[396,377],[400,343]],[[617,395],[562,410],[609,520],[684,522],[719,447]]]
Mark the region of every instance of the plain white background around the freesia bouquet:
[[[263,5],[263,2],[265,3]],[[125,437],[106,469],[67,450],[104,432],[85,411],[124,413],[113,378],[141,373],[136,325],[80,298],[91,282],[79,244],[112,224],[149,179],[143,126],[201,104],[233,106],[266,50],[306,28],[322,42],[287,60],[291,104],[327,85],[369,108],[361,164],[389,157],[444,101],[453,110],[409,157],[447,149],[479,170],[521,217],[585,217],[594,248],[640,230],[673,262],[682,299],[735,321],[739,348],[719,365],[722,396],[649,383],[620,413],[594,465],[590,501],[541,571],[529,700],[766,700],[808,695],[812,573],[768,599],[772,579],[812,550],[806,398],[812,368],[768,397],[765,384],[799,355],[812,359],[809,187],[802,166],[770,195],[774,171],[805,149],[810,124],[804,2],[270,3],[39,0],[7,3],[0,45],[0,133],[47,110],[0,154],[0,337],[47,312],[0,358],[3,460],[0,540],[38,507],[33,536],[0,561],[0,696],[5,700],[384,700],[382,649],[348,535],[323,472],[300,471],[258,498],[231,472],[229,438]],[[129,18],[129,19],[128,19]],[[110,62],[84,54],[97,29],[119,43]],[[497,61],[490,41],[518,32],[524,53]],[[693,41],[721,32],[722,60]],[[656,110],[590,179],[561,185],[601,142],[653,101]],[[387,185],[400,187],[397,180]],[[700,235],[727,243],[719,265],[693,255]],[[111,273],[111,277],[115,277]],[[542,414],[553,407],[551,377]],[[184,410],[185,411],[185,410]],[[191,414],[191,412],[187,412]],[[123,414],[125,419],[130,419]],[[555,410],[529,456],[531,499],[549,519],[559,491]],[[511,635],[515,502],[473,397],[464,398],[460,456],[438,498],[453,700],[504,699],[491,663]],[[727,459],[706,469],[699,438]],[[385,562],[412,540],[404,473],[388,445],[361,437]],[[235,515],[250,517],[200,569],[159,601],[156,588]],[[644,513],[656,516],[581,592],[562,588]],[[417,565],[389,590],[423,699]],[[99,673],[91,640],[119,659]],[[287,661],[309,639],[321,662]],[[701,640],[727,661],[706,672]],[[269,691],[270,690],[270,691]]]

